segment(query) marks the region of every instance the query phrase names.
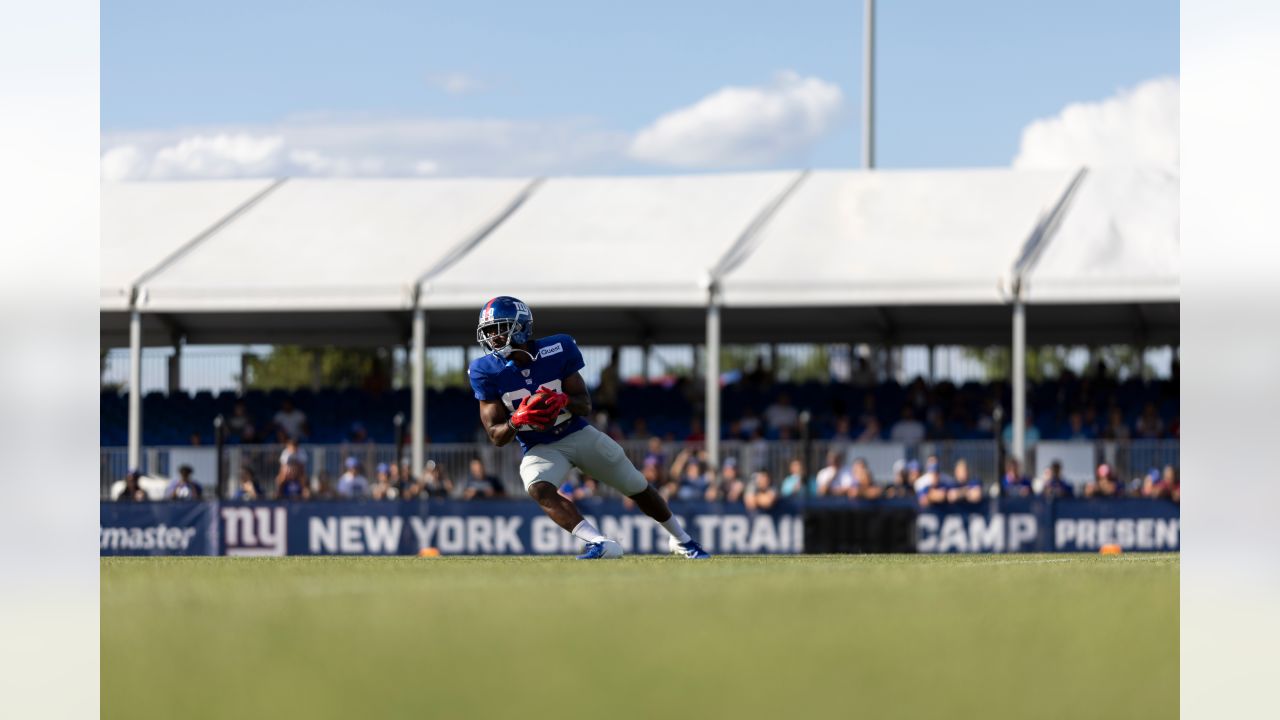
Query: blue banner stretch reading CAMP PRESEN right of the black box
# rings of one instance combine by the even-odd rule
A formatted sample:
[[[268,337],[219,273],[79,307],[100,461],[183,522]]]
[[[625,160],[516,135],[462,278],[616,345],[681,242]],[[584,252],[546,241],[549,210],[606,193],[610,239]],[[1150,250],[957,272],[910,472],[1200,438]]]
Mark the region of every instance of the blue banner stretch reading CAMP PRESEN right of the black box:
[[[1179,506],[1155,500],[1009,498],[920,510],[919,552],[1178,551]]]

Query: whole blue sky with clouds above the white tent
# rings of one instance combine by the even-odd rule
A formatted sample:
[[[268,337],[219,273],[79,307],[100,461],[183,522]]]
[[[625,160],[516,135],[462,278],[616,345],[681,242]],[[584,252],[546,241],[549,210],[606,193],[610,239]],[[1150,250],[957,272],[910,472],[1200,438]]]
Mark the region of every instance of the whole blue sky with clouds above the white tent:
[[[877,165],[1178,167],[1172,0],[881,0]],[[860,0],[101,8],[102,176],[861,163]]]

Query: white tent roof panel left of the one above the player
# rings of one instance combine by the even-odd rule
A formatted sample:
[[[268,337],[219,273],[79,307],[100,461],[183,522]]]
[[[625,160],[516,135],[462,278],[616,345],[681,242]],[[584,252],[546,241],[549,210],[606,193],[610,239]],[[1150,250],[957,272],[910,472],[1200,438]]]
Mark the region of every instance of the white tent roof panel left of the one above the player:
[[[291,179],[147,283],[155,311],[410,310],[520,179]]]

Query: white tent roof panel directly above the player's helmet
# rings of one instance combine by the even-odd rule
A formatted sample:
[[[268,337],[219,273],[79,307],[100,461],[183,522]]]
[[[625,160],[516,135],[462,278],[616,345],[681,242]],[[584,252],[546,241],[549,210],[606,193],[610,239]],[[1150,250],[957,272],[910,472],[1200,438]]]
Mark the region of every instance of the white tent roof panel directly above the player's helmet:
[[[424,305],[515,295],[532,307],[704,307],[705,275],[797,176],[549,179],[431,278]]]

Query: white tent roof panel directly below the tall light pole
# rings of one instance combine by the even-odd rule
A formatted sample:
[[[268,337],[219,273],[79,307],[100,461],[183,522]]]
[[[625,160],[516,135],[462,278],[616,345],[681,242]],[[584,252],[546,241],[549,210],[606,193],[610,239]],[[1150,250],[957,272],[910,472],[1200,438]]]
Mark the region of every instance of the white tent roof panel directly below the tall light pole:
[[[724,305],[1002,305],[1070,172],[817,172],[723,279]]]

